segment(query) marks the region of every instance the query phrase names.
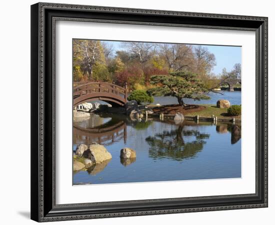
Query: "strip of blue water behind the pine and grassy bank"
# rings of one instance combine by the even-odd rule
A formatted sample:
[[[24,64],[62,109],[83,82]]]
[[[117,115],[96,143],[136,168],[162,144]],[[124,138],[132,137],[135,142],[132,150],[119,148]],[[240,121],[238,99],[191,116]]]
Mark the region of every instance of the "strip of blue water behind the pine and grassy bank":
[[[241,91],[219,91],[222,94],[210,92],[209,100],[193,100],[190,98],[183,98],[186,104],[216,104],[218,99],[226,99],[231,104],[241,104]],[[177,99],[171,96],[154,97],[153,104],[177,104]]]

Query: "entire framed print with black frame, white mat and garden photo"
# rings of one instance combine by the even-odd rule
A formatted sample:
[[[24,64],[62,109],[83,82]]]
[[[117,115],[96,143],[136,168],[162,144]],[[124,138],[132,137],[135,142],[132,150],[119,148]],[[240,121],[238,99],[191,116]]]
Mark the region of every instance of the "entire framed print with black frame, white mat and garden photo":
[[[31,5],[31,219],[267,207],[267,17]]]

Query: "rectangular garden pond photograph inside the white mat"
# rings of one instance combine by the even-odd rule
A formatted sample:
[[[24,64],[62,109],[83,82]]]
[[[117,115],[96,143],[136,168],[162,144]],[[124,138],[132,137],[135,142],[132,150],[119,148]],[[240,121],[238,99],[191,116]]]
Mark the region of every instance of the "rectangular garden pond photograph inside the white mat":
[[[241,46],[72,39],[73,184],[241,177]]]

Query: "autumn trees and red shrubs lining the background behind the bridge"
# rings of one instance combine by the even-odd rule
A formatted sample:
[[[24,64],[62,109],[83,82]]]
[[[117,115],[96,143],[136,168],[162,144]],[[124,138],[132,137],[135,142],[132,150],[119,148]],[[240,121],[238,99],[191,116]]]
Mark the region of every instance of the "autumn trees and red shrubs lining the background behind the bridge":
[[[215,56],[207,47],[124,41],[120,45],[123,50],[115,51],[111,42],[74,39],[73,80],[107,81],[122,86],[127,82],[133,90],[152,88],[156,84],[151,84],[151,76],[170,76],[172,72],[185,72],[192,77],[195,74],[205,87],[213,86],[216,79],[211,73]]]

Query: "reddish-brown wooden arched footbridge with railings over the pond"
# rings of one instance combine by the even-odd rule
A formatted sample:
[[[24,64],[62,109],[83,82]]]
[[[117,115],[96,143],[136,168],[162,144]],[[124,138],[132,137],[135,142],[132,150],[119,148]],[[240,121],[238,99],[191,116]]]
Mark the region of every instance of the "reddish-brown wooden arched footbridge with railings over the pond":
[[[121,87],[108,82],[88,82],[73,88],[73,106],[91,100],[122,106],[127,101],[127,84]]]

